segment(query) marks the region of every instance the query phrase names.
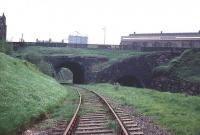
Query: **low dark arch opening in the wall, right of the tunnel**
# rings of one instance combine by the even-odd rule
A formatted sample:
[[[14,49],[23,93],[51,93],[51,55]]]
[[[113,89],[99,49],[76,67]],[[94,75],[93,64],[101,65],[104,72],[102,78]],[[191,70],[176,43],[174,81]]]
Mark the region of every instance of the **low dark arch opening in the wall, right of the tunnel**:
[[[115,82],[119,83],[122,86],[137,87],[137,88],[144,87],[143,83],[134,76],[122,76]]]

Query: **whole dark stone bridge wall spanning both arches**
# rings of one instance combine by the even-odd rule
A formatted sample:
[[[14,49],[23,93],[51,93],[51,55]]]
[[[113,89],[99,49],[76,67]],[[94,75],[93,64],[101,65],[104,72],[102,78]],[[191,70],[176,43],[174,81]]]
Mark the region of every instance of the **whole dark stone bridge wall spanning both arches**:
[[[127,86],[150,87],[153,68],[177,55],[179,53],[149,53],[125,59],[99,72],[93,72],[92,67],[108,61],[107,58],[46,56],[45,59],[52,64],[56,73],[63,67],[70,69],[73,73],[73,83],[76,84],[118,82]]]

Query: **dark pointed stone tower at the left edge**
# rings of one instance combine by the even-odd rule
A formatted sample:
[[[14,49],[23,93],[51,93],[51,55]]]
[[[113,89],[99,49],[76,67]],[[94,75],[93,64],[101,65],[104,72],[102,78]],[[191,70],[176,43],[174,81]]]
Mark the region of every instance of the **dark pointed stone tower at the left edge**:
[[[6,17],[3,13],[2,16],[0,16],[0,40],[6,40]]]

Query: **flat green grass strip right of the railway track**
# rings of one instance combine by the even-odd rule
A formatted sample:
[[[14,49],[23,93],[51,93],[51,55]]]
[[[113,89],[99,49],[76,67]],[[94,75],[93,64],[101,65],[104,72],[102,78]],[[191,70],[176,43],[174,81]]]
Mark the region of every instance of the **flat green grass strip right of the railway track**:
[[[84,87],[134,107],[172,134],[200,134],[200,97],[109,84]]]

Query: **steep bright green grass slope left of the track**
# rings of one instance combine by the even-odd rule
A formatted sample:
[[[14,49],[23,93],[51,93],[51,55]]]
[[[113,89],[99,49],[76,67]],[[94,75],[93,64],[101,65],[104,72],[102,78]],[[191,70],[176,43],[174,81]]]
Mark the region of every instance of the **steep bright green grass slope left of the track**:
[[[16,133],[68,96],[65,87],[34,65],[0,53],[0,134]]]

